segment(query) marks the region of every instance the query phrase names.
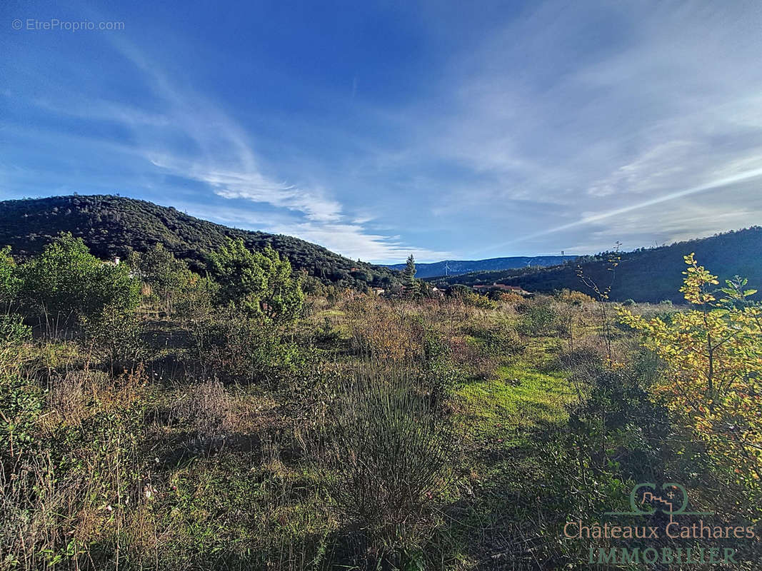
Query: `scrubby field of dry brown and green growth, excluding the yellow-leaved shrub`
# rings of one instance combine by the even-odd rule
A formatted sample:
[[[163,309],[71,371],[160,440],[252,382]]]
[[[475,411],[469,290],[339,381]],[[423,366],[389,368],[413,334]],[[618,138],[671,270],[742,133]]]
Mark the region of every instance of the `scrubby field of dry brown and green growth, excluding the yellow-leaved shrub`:
[[[759,521],[587,295],[331,290],[279,323],[193,283],[137,334],[2,322],[0,569],[584,569],[564,523],[640,481]]]

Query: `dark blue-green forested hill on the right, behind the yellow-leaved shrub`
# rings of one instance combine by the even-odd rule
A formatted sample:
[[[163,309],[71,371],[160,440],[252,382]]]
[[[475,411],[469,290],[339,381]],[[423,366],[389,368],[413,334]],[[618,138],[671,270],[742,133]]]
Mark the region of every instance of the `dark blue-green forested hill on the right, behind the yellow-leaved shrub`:
[[[685,270],[683,257],[691,252],[696,253],[700,265],[706,266],[721,280],[744,276],[749,280],[749,287],[762,290],[762,227],[754,226],[711,238],[620,254],[620,264],[613,274],[611,298],[617,301],[684,301],[677,290]],[[560,266],[469,273],[435,281],[450,285],[501,282],[520,285],[529,292],[552,292],[563,288],[585,291],[577,275],[577,266],[581,266],[585,276],[600,285],[607,285],[612,275],[607,270],[608,258],[609,255],[604,253],[580,257]]]

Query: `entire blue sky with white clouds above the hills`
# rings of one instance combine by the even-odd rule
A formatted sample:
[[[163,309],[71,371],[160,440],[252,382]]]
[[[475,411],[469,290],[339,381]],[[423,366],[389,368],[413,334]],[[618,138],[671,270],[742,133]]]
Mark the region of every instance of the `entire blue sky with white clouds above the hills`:
[[[743,1],[5,0],[0,198],[389,263],[706,236],[762,222],[760,30]]]

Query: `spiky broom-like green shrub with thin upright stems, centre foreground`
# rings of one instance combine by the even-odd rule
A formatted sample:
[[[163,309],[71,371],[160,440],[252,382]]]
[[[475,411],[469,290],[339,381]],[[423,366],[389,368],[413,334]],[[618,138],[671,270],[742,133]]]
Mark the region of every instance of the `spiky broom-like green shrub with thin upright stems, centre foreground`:
[[[344,381],[328,419],[318,460],[329,495],[383,557],[411,541],[447,486],[456,435],[404,370],[367,368]]]

